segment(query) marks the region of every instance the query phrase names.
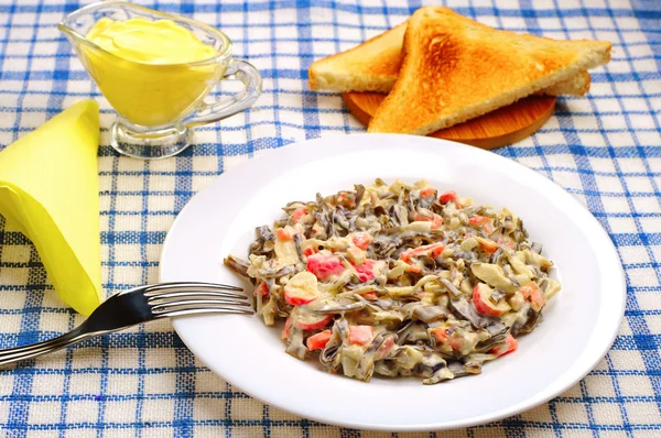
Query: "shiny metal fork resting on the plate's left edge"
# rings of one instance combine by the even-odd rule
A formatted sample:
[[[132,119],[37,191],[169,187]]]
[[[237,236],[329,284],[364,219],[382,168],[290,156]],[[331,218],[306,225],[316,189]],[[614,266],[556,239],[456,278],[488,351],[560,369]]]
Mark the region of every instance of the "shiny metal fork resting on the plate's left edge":
[[[0,350],[0,365],[36,358],[96,336],[155,319],[194,314],[252,315],[243,289],[215,283],[161,283],[120,292],[105,300],[80,326],[57,338]]]

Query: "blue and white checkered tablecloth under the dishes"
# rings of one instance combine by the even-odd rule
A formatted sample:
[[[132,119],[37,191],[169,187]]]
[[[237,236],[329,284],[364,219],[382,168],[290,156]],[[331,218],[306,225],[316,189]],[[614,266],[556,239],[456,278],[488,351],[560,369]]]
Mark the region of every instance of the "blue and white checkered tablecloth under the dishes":
[[[257,105],[199,129],[182,155],[143,162],[108,143],[113,114],[55,25],[87,2],[0,0],[0,149],[75,100],[101,105],[100,202],[106,294],[156,282],[174,217],[218,174],[262,151],[362,132],[335,94],[310,91],[307,66],[407,19],[386,0],[154,1],[224,30],[264,77]],[[661,436],[661,1],[447,0],[478,21],[614,44],[584,98],[561,97],[533,136],[496,153],[555,180],[589,208],[626,270],[626,321],[581,383],[548,404],[443,437]],[[0,221],[0,348],[52,338],[82,318],[58,300],[39,256]],[[299,418],[214,375],[167,322],[138,327],[0,371],[0,436],[377,437]],[[408,434],[400,434],[409,436]],[[413,435],[411,435],[413,436]],[[433,436],[419,434],[418,436]]]

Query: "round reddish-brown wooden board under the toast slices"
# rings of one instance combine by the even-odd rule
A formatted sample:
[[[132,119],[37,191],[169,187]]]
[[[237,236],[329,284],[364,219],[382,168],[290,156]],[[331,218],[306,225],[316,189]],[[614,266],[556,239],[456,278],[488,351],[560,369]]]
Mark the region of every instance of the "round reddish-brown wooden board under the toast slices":
[[[360,123],[368,125],[386,95],[351,91],[344,92],[342,97]],[[496,149],[532,135],[549,120],[554,107],[554,96],[529,96],[510,106],[431,133],[430,136],[481,149]]]

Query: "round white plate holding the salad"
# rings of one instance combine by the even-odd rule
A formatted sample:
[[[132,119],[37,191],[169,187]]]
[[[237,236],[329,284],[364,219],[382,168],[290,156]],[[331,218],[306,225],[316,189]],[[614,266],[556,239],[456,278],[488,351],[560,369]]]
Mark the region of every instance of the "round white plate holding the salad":
[[[368,184],[426,178],[476,202],[507,206],[557,266],[563,289],[519,350],[483,374],[425,386],[370,383],[321,371],[284,353],[280,331],[257,317],[177,318],[174,328],[209,369],[264,403],[311,419],[380,430],[437,430],[500,419],[549,401],[608,351],[625,308],[625,278],[608,236],[562,188],[494,153],[437,139],[328,136],[264,153],[220,175],[180,213],[165,240],[162,281],[241,284],[221,260],[247,255],[254,228],[290,200]],[[245,283],[246,286],[249,283]],[[251,291],[251,288],[248,288]]]

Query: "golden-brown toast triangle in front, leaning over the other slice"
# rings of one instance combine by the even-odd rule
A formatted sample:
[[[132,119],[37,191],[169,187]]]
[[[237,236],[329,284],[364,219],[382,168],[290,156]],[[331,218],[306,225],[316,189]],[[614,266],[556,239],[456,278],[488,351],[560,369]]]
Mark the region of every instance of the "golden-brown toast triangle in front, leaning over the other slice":
[[[429,134],[606,64],[610,47],[499,31],[447,8],[421,8],[409,19],[397,83],[368,131]]]

